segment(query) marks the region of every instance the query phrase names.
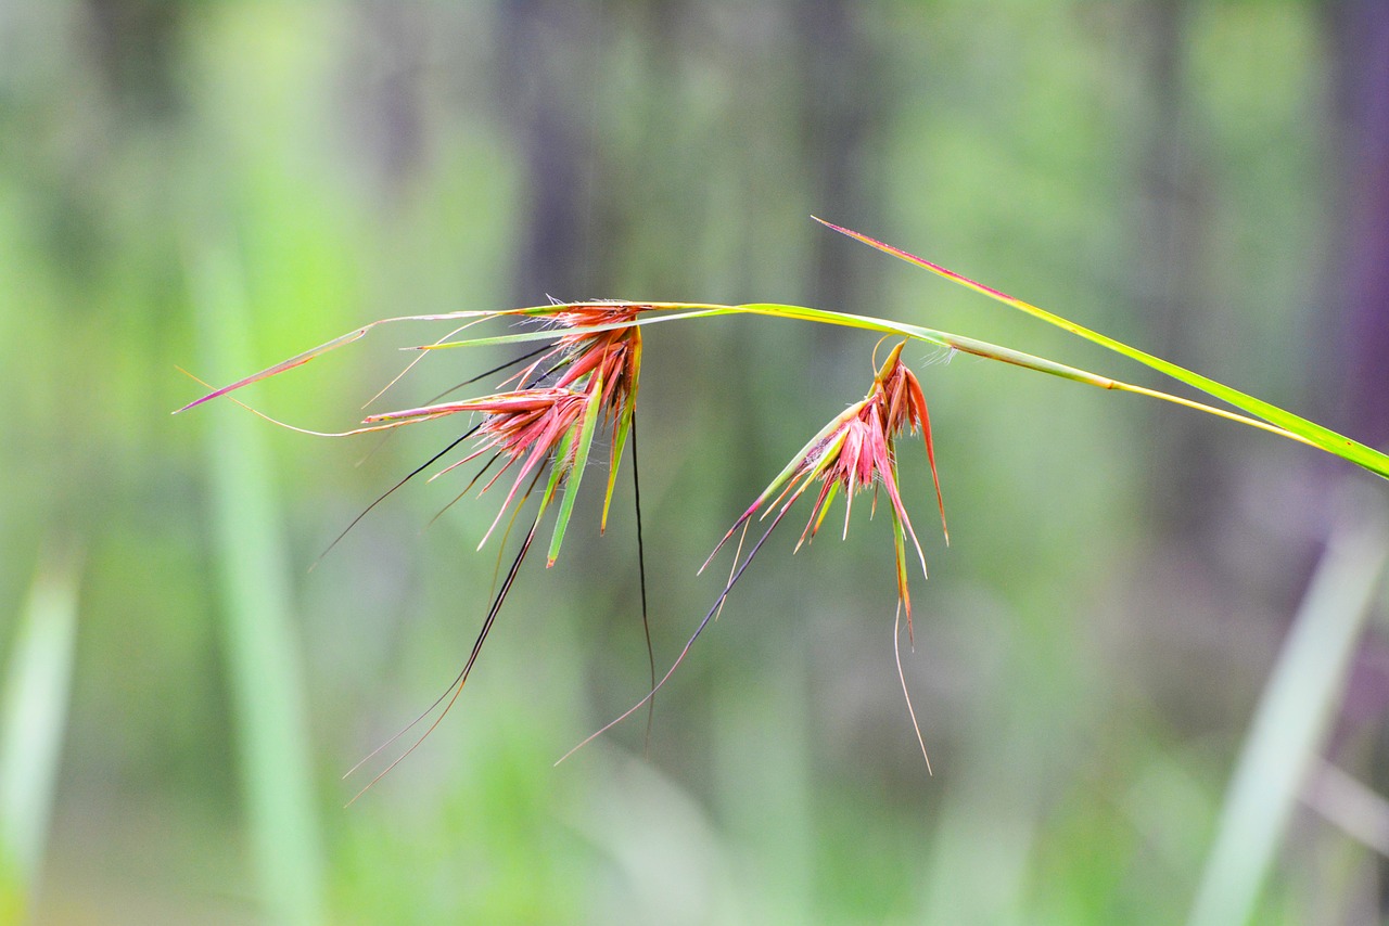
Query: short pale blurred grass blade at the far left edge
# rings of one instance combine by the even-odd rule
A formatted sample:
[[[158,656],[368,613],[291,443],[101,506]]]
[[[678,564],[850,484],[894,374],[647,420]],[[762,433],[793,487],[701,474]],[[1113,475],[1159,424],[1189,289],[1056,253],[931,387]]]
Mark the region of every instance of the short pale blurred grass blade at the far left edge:
[[[43,862],[67,725],[76,615],[76,557],[43,557],[17,621],[0,702],[3,923],[24,922]]]

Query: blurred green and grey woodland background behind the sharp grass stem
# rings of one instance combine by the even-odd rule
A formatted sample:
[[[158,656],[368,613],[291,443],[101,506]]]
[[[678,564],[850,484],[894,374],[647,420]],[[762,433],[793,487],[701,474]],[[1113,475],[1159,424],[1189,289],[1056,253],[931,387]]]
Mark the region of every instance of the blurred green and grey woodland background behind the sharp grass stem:
[[[629,483],[600,537],[592,478],[453,712],[344,809],[386,762],[339,776],[472,646],[500,497],[429,525],[463,483],[411,483],[310,572],[454,425],[376,447],[231,404],[171,416],[200,390],[176,367],[222,383],[375,318],[622,297],[883,315],[1165,387],[815,214],[1385,446],[1386,49],[1375,0],[0,3],[6,915],[1182,920],[1374,476],[908,347],[951,529],[946,548],[907,450],[931,579],[904,665],[933,776],[867,505],[846,541],[792,557],[796,525],[764,550],[649,744],[633,718],[551,768],[647,684]],[[347,426],[396,347],[439,333],[381,329],[246,398]],[[863,394],[874,340],[647,335],[658,669],[718,591],[694,569]],[[432,357],[396,396],[503,360]],[[1263,847],[1258,922],[1382,922],[1370,611]]]

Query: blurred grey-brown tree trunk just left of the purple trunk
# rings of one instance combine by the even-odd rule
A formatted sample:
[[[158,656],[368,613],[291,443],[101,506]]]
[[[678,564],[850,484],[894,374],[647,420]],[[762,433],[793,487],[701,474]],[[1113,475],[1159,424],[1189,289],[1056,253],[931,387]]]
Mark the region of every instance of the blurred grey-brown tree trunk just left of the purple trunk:
[[[1138,208],[1129,228],[1133,340],[1201,369],[1203,347],[1220,337],[1204,278],[1208,178],[1200,161],[1200,124],[1190,110],[1193,12],[1190,0],[1145,0],[1132,10],[1129,42],[1140,56],[1143,83],[1131,140]],[[1246,722],[1240,684],[1256,686],[1260,671],[1240,661],[1247,654],[1238,647],[1270,633],[1265,612],[1253,604],[1268,589],[1250,573],[1239,544],[1229,541],[1240,473],[1218,453],[1225,432],[1203,415],[1174,414],[1157,404],[1146,415],[1149,547],[1139,579],[1145,587],[1131,594],[1147,612],[1139,632],[1143,655],[1132,671],[1151,673],[1146,682],[1151,697],[1186,729],[1226,729]],[[1200,677],[1218,682],[1192,684]]]

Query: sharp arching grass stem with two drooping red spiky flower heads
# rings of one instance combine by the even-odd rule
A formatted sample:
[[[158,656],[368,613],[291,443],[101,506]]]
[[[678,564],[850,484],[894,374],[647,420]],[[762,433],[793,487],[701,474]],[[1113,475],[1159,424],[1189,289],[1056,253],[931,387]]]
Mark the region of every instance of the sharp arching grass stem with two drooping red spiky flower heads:
[[[1076,325],[1075,322],[1031,305],[1029,303],[1024,303],[1022,300],[1014,298],[1000,290],[978,283],[953,271],[947,271],[943,267],[915,257],[901,249],[885,244],[883,242],[858,232],[824,222],[822,219],[817,221],[842,235],[853,237],[917,267],[925,268],[942,278],[972,289],[974,292],[1000,301],[1014,310],[1026,312],[1035,318],[1046,321],[1047,323],[1063,328],[1078,337],[1097,343],[1125,358],[1138,361],[1139,364],[1156,369],[1172,379],[1199,389],[1208,396],[1226,403],[1238,411],[1207,405],[1192,398],[1160,392],[1147,386],[1126,383],[1079,369],[1076,367],[1060,364],[1045,357],[1036,357],[1010,347],[1003,347],[1000,344],[961,335],[953,335],[950,332],[892,319],[810,308],[804,305],[786,305],[779,303],[724,305],[713,303],[632,303],[614,300],[553,303],[547,305],[532,305],[504,311],[457,311],[432,315],[404,315],[381,319],[357,328],[346,335],[340,335],[339,337],[319,344],[318,347],[296,354],[289,360],[281,361],[279,364],[239,379],[228,386],[222,386],[219,389],[208,387],[210,392],[183,405],[178,411],[188,411],[218,397],[229,397],[229,393],[301,367],[308,361],[339,347],[361,340],[372,329],[389,323],[450,322],[453,323],[453,328],[446,335],[431,343],[415,344],[414,347],[407,348],[414,351],[415,357],[403,371],[400,371],[400,373],[386,383],[383,389],[368,400],[368,405],[375,403],[389,389],[400,383],[400,380],[410,371],[413,371],[417,364],[424,361],[426,357],[433,355],[436,351],[457,347],[538,344],[528,353],[521,354],[506,364],[493,367],[478,376],[464,380],[458,386],[439,393],[432,400],[421,405],[367,415],[358,426],[347,430],[307,430],[286,425],[251,410],[257,415],[276,425],[292,428],[293,430],[299,430],[301,433],[322,436],[350,436],[375,430],[389,432],[406,425],[436,421],[457,414],[472,416],[481,415],[481,421],[465,429],[461,436],[449,443],[442,451],[413,469],[404,479],[393,485],[375,501],[372,501],[360,515],[357,515],[357,518],[353,519],[351,523],[347,525],[347,528],[332,541],[332,544],[329,544],[325,554],[332,550],[333,546],[336,546],[342,537],[346,536],[346,533],[378,504],[385,501],[407,482],[418,476],[429,466],[438,464],[447,454],[457,450],[460,444],[468,440],[475,440],[475,446],[464,453],[460,460],[447,464],[442,471],[431,476],[429,480],[432,482],[439,479],[453,469],[478,460],[479,457],[488,457],[488,461],[472,476],[463,493],[450,501],[449,505],[444,505],[443,511],[446,511],[454,504],[454,501],[471,491],[482,476],[493,469],[494,464],[500,462],[500,466],[490,475],[489,480],[482,485],[481,493],[486,493],[503,473],[507,473],[513,468],[515,469],[515,476],[506,498],[496,512],[492,525],[483,534],[483,544],[496,530],[497,525],[501,523],[503,516],[508,511],[510,519],[504,533],[510,533],[511,525],[515,523],[521,505],[529,498],[532,490],[540,485],[540,480],[544,479],[544,487],[536,505],[535,519],[531,529],[526,532],[525,540],[513,559],[510,569],[506,572],[492,608],[483,622],[482,632],[479,633],[464,668],[460,671],[454,683],[450,684],[450,687],[439,697],[439,700],[435,701],[435,704],[429,707],[428,711],[415,718],[414,722],[397,733],[396,737],[392,737],[392,740],[383,744],[382,748],[428,718],[440,704],[444,704],[444,709],[433,721],[429,729],[400,758],[392,762],[392,765],[386,769],[388,772],[390,768],[394,768],[394,765],[399,764],[404,755],[408,755],[415,747],[418,747],[429,732],[438,726],[439,721],[444,714],[447,714],[449,708],[461,693],[468,673],[476,661],[478,653],[481,651],[482,644],[496,621],[497,612],[500,611],[506,596],[515,580],[521,562],[529,551],[540,522],[551,504],[554,504],[556,512],[553,518],[553,536],[546,555],[546,562],[547,565],[553,565],[558,558],[563,540],[574,515],[579,485],[592,453],[593,440],[597,432],[603,429],[606,429],[610,435],[610,447],[608,478],[599,522],[600,533],[607,526],[608,510],[615,490],[618,462],[628,440],[631,440],[632,444],[632,487],[636,504],[638,573],[642,587],[642,625],[646,636],[651,683],[649,693],[644,698],[642,698],[642,701],[611,723],[606,725],[583,743],[590,741],[601,732],[610,729],[614,723],[625,719],[642,705],[649,705],[646,741],[650,741],[651,705],[656,691],[665,684],[675,668],[685,659],[685,655],[689,653],[694,640],[700,636],[708,622],[718,616],[733,586],[746,572],[751,559],[761,550],[771,532],[775,530],[776,525],[781,523],[781,519],[786,515],[790,507],[795,505],[795,503],[813,483],[818,483],[818,491],[813,500],[810,516],[800,533],[796,548],[814,539],[822,526],[831,505],[840,494],[845,497],[845,533],[847,533],[849,529],[853,498],[858,491],[871,489],[874,507],[876,507],[879,490],[888,497],[888,508],[892,518],[893,559],[896,565],[899,607],[897,621],[895,621],[895,654],[897,657],[897,673],[903,682],[903,693],[906,694],[906,676],[901,672],[900,648],[896,643],[896,628],[900,623],[901,615],[906,614],[907,636],[908,640],[913,639],[911,597],[907,589],[908,539],[911,540],[915,558],[921,564],[922,575],[925,575],[926,571],[926,561],[921,543],[917,539],[917,533],[908,518],[899,485],[897,443],[903,433],[915,433],[917,430],[922,433],[926,460],[931,468],[931,478],[936,494],[936,504],[940,510],[942,533],[945,534],[947,544],[950,539],[946,526],[945,500],[940,490],[940,478],[936,469],[936,450],[931,433],[925,396],[917,376],[901,361],[903,346],[908,340],[938,344],[953,351],[983,357],[1097,389],[1125,392],[1182,405],[1185,408],[1224,418],[1226,421],[1256,428],[1279,437],[1321,448],[1347,460],[1349,462],[1370,469],[1379,476],[1389,478],[1389,455],[1338,435],[1326,428],[1322,428],[1321,425],[1317,425],[1315,422],[1300,418],[1289,411],[1264,403],[1263,400],[1247,396],[1246,393],[1224,386],[1222,383],[1161,358],[1153,357],[1151,354],[1129,347],[1104,335],[1099,335],[1097,332],[1093,332],[1082,325]],[[718,594],[714,605],[708,609],[699,628],[685,644],[685,648],[681,651],[671,669],[664,676],[657,679],[656,657],[650,637],[649,603],[646,596],[640,485],[636,465],[636,396],[642,362],[642,329],[650,325],[674,321],[696,321],[731,315],[761,315],[781,321],[833,325],[838,328],[876,332],[883,336],[896,336],[903,340],[892,347],[888,360],[881,367],[875,362],[876,373],[868,394],[832,418],[820,432],[817,432],[810,441],[807,441],[800,451],[792,457],[781,473],[772,479],[772,482],[753,501],[753,504],[733,522],[728,533],[725,533],[714,547],[714,551],[704,564],[706,566],[710,561],[713,561],[714,555],[724,547],[724,544],[732,539],[733,533],[740,534],[738,550],[733,554],[729,576],[722,591]],[[464,332],[471,333],[469,329],[483,322],[518,322],[526,319],[539,321],[543,325],[542,328],[533,330],[458,339],[460,335]],[[513,373],[508,379],[503,380],[497,386],[497,392],[461,401],[442,401],[449,394],[464,386],[514,367],[521,367],[521,369]],[[240,404],[236,397],[229,398]],[[522,486],[525,486],[524,491]],[[767,532],[763,533],[756,544],[753,544],[751,550],[743,555],[743,537],[746,536],[749,523],[754,515],[757,515],[758,519],[772,516],[772,522]],[[479,544],[479,548],[481,546],[482,544]],[[504,548],[506,541],[503,540],[500,546]],[[501,559],[499,554],[499,573]],[[921,729],[917,725],[915,711],[911,707],[910,696],[907,698],[907,708],[911,715],[913,726],[917,732],[917,739],[922,746],[922,755],[925,755],[925,741],[921,736]],[[581,743],[579,746],[583,744]],[[372,755],[375,754],[376,752]],[[568,755],[572,755],[572,750],[565,754],[565,758]],[[926,758],[928,769],[929,764],[931,761]],[[382,772],[382,775],[385,775],[385,772]],[[374,782],[378,779],[374,779]],[[371,787],[371,784],[368,784],[368,787]]]

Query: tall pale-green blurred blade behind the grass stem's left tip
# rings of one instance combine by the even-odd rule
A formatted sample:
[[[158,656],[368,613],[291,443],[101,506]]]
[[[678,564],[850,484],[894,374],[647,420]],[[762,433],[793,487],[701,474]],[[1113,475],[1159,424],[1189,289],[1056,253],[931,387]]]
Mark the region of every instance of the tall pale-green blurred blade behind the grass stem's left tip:
[[[204,249],[190,264],[204,369],[249,365],[246,300],[232,257]],[[272,922],[318,923],[322,840],[311,780],[300,643],[271,464],[250,415],[211,410],[208,469],[221,571],[222,640],[251,848]]]

